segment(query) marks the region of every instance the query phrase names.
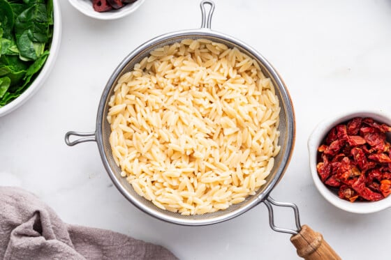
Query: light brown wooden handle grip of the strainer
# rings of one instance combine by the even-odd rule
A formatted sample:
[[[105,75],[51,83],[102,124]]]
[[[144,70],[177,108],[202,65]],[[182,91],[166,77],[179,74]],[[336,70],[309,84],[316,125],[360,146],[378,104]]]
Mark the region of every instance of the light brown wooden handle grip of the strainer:
[[[290,237],[290,242],[295,245],[297,255],[306,260],[341,260],[341,257],[323,239],[322,234],[313,231],[305,224],[298,234]]]

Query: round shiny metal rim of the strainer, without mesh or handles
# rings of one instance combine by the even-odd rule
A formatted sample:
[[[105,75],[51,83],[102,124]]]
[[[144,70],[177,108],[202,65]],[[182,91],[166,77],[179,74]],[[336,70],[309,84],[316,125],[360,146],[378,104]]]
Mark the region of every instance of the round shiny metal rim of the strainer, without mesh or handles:
[[[105,154],[105,148],[103,145],[103,120],[105,120],[104,109],[105,104],[108,98],[110,98],[109,94],[112,89],[112,86],[115,84],[117,77],[120,75],[120,73],[124,70],[124,68],[128,65],[129,62],[131,62],[135,56],[138,56],[138,54],[144,52],[145,49],[148,47],[157,45],[158,43],[163,43],[165,40],[170,40],[172,38],[177,37],[186,37],[186,36],[207,36],[207,37],[214,37],[219,38],[221,40],[226,40],[230,43],[233,43],[234,45],[238,45],[239,47],[242,47],[242,49],[245,49],[247,52],[251,53],[254,57],[256,57],[256,60],[260,63],[262,63],[263,67],[267,70],[267,72],[270,74],[271,77],[273,77],[274,81],[281,91],[281,98],[286,100],[286,105],[288,108],[286,109],[286,117],[288,121],[287,125],[287,135],[288,137],[288,144],[286,152],[283,154],[283,158],[281,159],[281,165],[278,169],[276,169],[276,175],[265,185],[267,185],[263,192],[258,194],[256,199],[253,199],[252,201],[249,201],[244,206],[241,206],[234,211],[230,211],[226,214],[207,218],[207,219],[187,219],[187,218],[178,218],[170,215],[166,215],[163,213],[160,213],[152,208],[149,208],[142,204],[141,201],[139,201],[137,198],[133,197],[129,192],[121,185],[119,182],[119,179],[115,176],[115,172],[110,167],[110,164],[108,162],[108,158]],[[223,222],[226,220],[230,220],[233,217],[237,217],[238,215],[242,215],[246,211],[249,211],[254,206],[260,204],[263,200],[267,198],[269,193],[274,189],[277,183],[279,183],[280,179],[283,177],[283,174],[286,171],[286,167],[288,166],[290,162],[290,157],[293,152],[293,146],[295,143],[295,116],[293,111],[293,104],[290,99],[290,95],[288,93],[288,90],[286,89],[286,85],[284,84],[283,80],[281,79],[280,75],[274,67],[261,55],[256,49],[253,49],[253,47],[247,45],[246,43],[242,42],[241,40],[238,40],[237,38],[233,38],[232,36],[228,36],[225,33],[219,33],[217,31],[213,31],[212,29],[208,28],[200,28],[200,29],[190,29],[190,30],[182,30],[182,31],[174,31],[171,33],[165,33],[161,36],[157,36],[155,38],[152,38],[151,40],[148,40],[147,42],[143,43],[136,49],[134,49],[132,52],[130,52],[122,61],[119,63],[117,68],[115,68],[114,72],[108,79],[107,84],[105,85],[105,88],[103,89],[103,94],[101,96],[101,100],[98,105],[98,113],[96,116],[96,142],[98,144],[98,151],[101,155],[101,159],[103,161],[103,165],[108,172],[108,175],[110,176],[112,182],[115,184],[117,190],[121,192],[121,194],[128,199],[134,206],[139,208],[141,211],[147,213],[148,215],[151,215],[152,217],[156,217],[160,220],[163,220],[165,222],[170,222],[174,224],[182,224],[182,225],[188,225],[188,226],[201,226],[201,225],[207,225],[207,224],[215,224],[219,222]],[[256,195],[252,195],[256,196]]]

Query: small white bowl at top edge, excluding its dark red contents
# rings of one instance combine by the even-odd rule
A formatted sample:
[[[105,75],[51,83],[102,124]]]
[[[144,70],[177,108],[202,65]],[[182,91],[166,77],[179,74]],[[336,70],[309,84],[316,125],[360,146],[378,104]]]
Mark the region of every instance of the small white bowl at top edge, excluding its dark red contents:
[[[134,3],[128,3],[126,6],[119,8],[117,10],[113,9],[108,12],[96,12],[92,7],[91,0],[69,0],[71,5],[78,9],[84,15],[87,15],[92,18],[96,18],[99,20],[115,20],[126,15],[130,15],[135,10],[137,10],[145,0],[137,0]]]

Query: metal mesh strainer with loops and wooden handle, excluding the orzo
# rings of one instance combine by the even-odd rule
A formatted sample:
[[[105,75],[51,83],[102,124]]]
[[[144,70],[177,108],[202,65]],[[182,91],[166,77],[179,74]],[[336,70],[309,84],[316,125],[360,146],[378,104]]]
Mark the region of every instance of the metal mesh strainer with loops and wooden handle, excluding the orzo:
[[[209,12],[206,10],[206,6],[209,5]],[[147,43],[141,45],[137,49],[135,49],[131,54],[126,56],[126,58],[119,64],[116,70],[113,72],[112,76],[108,80],[108,83],[105,86],[103,91],[101,101],[99,102],[98,114],[96,118],[96,130],[95,132],[67,132],[65,141],[68,146],[73,146],[75,144],[79,144],[81,142],[89,142],[94,141],[98,144],[99,152],[101,153],[101,158],[103,160],[103,165],[105,169],[108,171],[112,182],[115,184],[117,189],[121,192],[121,194],[126,197],[132,204],[140,208],[140,210],[152,215],[153,217],[157,217],[160,220],[164,220],[167,222],[175,223],[175,224],[183,224],[190,226],[199,226],[206,224],[214,224],[218,222],[223,222],[225,220],[229,220],[233,217],[236,217],[253,206],[256,206],[263,202],[268,210],[270,215],[270,226],[275,231],[284,232],[293,234],[291,238],[292,242],[295,245],[300,245],[300,248],[297,247],[297,253],[301,257],[307,256],[317,256],[319,252],[322,252],[323,249],[329,250],[326,256],[332,256],[334,258],[328,259],[339,259],[337,254],[332,251],[330,247],[328,247],[327,243],[321,239],[321,235],[318,233],[311,233],[311,229],[307,226],[301,227],[299,220],[299,213],[297,206],[295,204],[289,203],[280,203],[274,201],[270,196],[270,191],[274,188],[274,186],[279,182],[281,177],[283,176],[284,171],[288,165],[290,160],[290,156],[293,151],[293,145],[295,142],[295,116],[293,112],[292,102],[290,100],[290,96],[288,91],[286,90],[285,84],[279,74],[274,70],[274,68],[260,55],[255,49],[242,43],[240,40],[227,36],[223,33],[218,33],[216,31],[211,30],[211,20],[212,14],[214,11],[214,3],[212,1],[202,1],[200,3],[200,7],[202,10],[202,24],[200,29],[194,30],[186,30],[186,31],[177,31],[173,33],[167,33],[162,36],[158,36],[152,40],[149,40]],[[109,144],[109,136],[110,136],[110,123],[106,120],[106,116],[108,114],[108,102],[110,100],[111,95],[114,93],[115,85],[117,84],[117,80],[124,75],[124,73],[133,70],[135,63],[139,63],[146,56],[149,56],[149,52],[152,50],[163,47],[164,45],[172,45],[172,43],[181,42],[184,39],[199,39],[205,38],[208,40],[212,40],[216,43],[223,43],[230,48],[236,47],[239,51],[244,54],[249,55],[254,60],[258,61],[258,64],[263,71],[265,77],[270,77],[272,83],[274,84],[276,95],[279,98],[279,104],[281,106],[281,112],[279,114],[279,145],[281,146],[281,150],[279,154],[274,158],[274,167],[271,171],[271,174],[267,177],[267,183],[263,185],[255,195],[247,197],[245,201],[240,204],[235,204],[230,206],[226,210],[217,211],[214,213],[206,213],[203,215],[181,215],[179,213],[172,213],[170,211],[164,211],[152,204],[151,201],[140,197],[135,190],[133,190],[132,186],[126,181],[126,178],[121,177],[121,169],[117,167],[115,164],[115,160],[112,157],[112,151]],[[71,136],[80,137],[71,141]],[[283,229],[276,227],[274,225],[273,218],[273,208],[274,206],[286,206],[293,208],[295,213],[295,224],[296,229]],[[309,232],[311,231],[311,232]],[[312,235],[312,240],[305,243],[304,246],[302,243],[303,233]],[[304,234],[304,235],[305,235]],[[298,242],[294,242],[294,238]],[[308,240],[308,238],[306,238]],[[313,243],[315,241],[316,243]],[[311,244],[312,243],[312,244]],[[302,248],[305,247],[305,250]],[[308,247],[308,248],[307,248]],[[302,250],[302,252],[299,252]],[[322,254],[322,259],[325,259],[325,254]],[[318,258],[317,258],[318,259]],[[320,258],[319,258],[320,259]],[[327,258],[326,258],[327,259]]]

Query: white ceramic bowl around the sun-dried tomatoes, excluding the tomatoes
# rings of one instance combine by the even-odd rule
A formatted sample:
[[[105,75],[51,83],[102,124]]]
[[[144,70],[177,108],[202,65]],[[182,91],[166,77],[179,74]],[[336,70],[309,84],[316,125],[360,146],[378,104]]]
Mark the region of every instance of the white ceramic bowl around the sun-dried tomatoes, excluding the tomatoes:
[[[309,167],[311,170],[313,183],[315,183],[315,186],[320,194],[322,194],[323,197],[325,197],[325,199],[331,204],[351,213],[374,213],[377,211],[382,211],[383,209],[389,208],[391,206],[391,195],[380,201],[355,201],[352,203],[350,201],[339,198],[337,193],[332,192],[332,190],[327,188],[326,185],[320,181],[318,171],[316,170],[318,146],[320,146],[320,144],[323,142],[327,132],[329,132],[335,125],[358,116],[371,117],[374,118],[375,121],[391,125],[390,114],[386,114],[382,111],[368,110],[338,114],[321,121],[313,130],[308,140]],[[390,139],[390,135],[388,135],[388,137],[388,139]]]

